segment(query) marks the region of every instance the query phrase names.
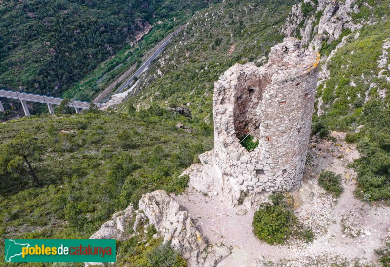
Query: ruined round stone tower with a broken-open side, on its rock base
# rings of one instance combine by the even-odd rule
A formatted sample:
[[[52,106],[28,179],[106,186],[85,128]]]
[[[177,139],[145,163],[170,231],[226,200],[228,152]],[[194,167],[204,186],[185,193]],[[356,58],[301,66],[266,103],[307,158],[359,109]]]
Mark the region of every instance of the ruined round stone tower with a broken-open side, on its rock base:
[[[235,64],[214,84],[214,145],[184,174],[190,186],[230,205],[263,192],[285,192],[303,176],[320,55],[286,38],[262,67]],[[240,136],[259,140],[253,151]]]

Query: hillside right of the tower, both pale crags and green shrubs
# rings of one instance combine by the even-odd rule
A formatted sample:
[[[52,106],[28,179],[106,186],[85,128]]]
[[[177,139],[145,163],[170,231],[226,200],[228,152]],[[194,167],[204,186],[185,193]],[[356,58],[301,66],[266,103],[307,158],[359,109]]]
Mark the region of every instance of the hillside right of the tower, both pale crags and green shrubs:
[[[362,154],[356,194],[366,200],[390,199],[389,15],[387,0],[299,3],[282,29],[322,55],[313,131],[350,132]]]

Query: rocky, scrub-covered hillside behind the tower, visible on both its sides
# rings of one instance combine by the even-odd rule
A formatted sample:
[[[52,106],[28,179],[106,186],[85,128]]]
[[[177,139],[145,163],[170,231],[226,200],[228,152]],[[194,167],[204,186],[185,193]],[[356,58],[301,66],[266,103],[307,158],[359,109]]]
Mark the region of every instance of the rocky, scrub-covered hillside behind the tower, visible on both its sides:
[[[313,132],[350,131],[347,140],[360,142],[367,155],[356,162],[360,191],[389,199],[389,15],[388,0],[313,0],[292,8],[225,1],[193,16],[121,109],[186,104],[210,122],[213,83],[224,70],[235,62],[261,65],[283,36],[301,38],[321,54]],[[382,160],[373,163],[373,155]]]

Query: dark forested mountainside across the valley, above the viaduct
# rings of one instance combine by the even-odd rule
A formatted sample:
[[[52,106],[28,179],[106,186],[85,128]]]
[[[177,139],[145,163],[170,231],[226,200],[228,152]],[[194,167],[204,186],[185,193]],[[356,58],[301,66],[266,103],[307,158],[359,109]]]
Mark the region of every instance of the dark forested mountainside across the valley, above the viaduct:
[[[207,6],[172,0],[5,0],[0,85],[59,95],[135,39],[146,23]]]

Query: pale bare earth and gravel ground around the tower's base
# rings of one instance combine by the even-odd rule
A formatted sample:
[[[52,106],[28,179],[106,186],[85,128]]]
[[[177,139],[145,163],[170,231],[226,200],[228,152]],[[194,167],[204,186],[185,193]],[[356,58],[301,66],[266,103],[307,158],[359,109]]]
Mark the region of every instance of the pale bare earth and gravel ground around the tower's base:
[[[333,132],[337,143],[311,141],[310,163],[300,189],[294,193],[295,214],[301,224],[312,228],[315,240],[292,240],[271,246],[252,233],[254,212],[245,207],[231,209],[193,189],[173,196],[188,210],[195,226],[211,243],[222,242],[232,254],[219,267],[236,266],[379,266],[374,249],[390,240],[390,207],[369,205],[353,196],[356,173],[347,167],[359,157],[355,145],[344,142],[345,134]],[[341,174],[344,193],[336,200],[318,187],[322,169]]]

